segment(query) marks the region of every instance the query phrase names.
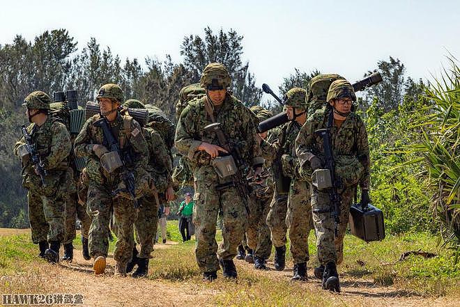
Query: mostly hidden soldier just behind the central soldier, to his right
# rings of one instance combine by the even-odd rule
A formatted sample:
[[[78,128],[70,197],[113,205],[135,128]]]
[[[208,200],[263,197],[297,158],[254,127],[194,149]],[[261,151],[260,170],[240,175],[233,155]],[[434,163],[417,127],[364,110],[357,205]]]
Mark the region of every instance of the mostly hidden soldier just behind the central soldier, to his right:
[[[273,116],[273,113],[260,107],[251,107],[250,110],[256,115],[256,123]],[[259,134],[259,136],[262,139],[266,139],[267,134],[267,132],[264,132],[263,134]],[[256,269],[267,269],[266,260],[270,257],[272,251],[270,228],[266,223],[267,214],[270,210],[270,202],[273,198],[273,180],[269,167],[270,164],[266,163],[266,173],[263,178],[252,177],[250,183],[252,185],[252,193],[250,195],[250,216],[246,237],[247,245],[250,247],[250,251],[254,253],[253,262]]]

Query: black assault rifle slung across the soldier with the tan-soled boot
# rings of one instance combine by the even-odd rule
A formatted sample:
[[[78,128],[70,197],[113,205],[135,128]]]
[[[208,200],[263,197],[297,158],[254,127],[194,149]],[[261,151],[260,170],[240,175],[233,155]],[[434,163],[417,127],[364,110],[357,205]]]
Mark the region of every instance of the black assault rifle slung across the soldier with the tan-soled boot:
[[[114,159],[116,160],[116,156],[118,156],[118,161],[121,162],[121,172],[120,172],[120,177],[121,180],[125,183],[126,186],[126,191],[130,194],[132,197],[132,200],[134,201],[135,208],[139,208],[139,203],[137,203],[136,200],[136,193],[135,193],[135,175],[132,171],[128,170],[128,164],[132,164],[132,159],[129,154],[129,152],[126,152],[125,150],[121,150],[120,146],[118,145],[118,140],[114,137],[114,134],[112,134],[112,129],[110,129],[109,122],[107,121],[107,118],[102,117],[99,120],[96,120],[93,125],[95,127],[101,127],[102,128],[102,134],[104,135],[104,143],[107,144],[107,149],[109,152],[114,152]],[[107,154],[106,154],[107,155]],[[116,196],[119,192],[124,192],[121,189],[116,189],[112,191],[112,196]]]

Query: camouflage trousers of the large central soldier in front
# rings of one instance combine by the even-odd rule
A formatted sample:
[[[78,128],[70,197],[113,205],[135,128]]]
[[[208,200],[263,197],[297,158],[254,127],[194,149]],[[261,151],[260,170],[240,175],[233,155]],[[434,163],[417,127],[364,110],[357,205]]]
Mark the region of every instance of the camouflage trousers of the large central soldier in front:
[[[212,166],[194,170],[193,223],[197,245],[195,255],[201,271],[217,271],[219,262],[231,260],[247,228],[247,212],[235,187],[217,190],[219,178]],[[217,251],[215,241],[217,214],[222,214],[222,237]]]

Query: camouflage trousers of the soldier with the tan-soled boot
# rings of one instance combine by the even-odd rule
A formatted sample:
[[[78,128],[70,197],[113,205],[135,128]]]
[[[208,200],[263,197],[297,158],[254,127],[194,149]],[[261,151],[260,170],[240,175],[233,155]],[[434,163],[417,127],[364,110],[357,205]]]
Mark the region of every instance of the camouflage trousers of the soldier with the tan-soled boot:
[[[115,244],[114,259],[127,263],[132,258],[134,247],[134,227],[137,210],[131,200],[112,197],[112,191],[95,182],[89,183],[86,212],[92,218],[89,228],[89,254],[92,258],[102,255],[107,257],[109,251],[109,223],[114,213],[118,234]]]

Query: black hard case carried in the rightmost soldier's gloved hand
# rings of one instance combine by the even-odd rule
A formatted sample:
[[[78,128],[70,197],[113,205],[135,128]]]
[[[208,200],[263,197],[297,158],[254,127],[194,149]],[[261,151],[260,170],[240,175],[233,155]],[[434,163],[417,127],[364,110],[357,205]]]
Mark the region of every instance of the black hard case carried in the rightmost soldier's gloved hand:
[[[365,242],[385,239],[383,212],[371,204],[364,208],[359,203],[353,204],[350,208],[348,225],[351,234]]]

